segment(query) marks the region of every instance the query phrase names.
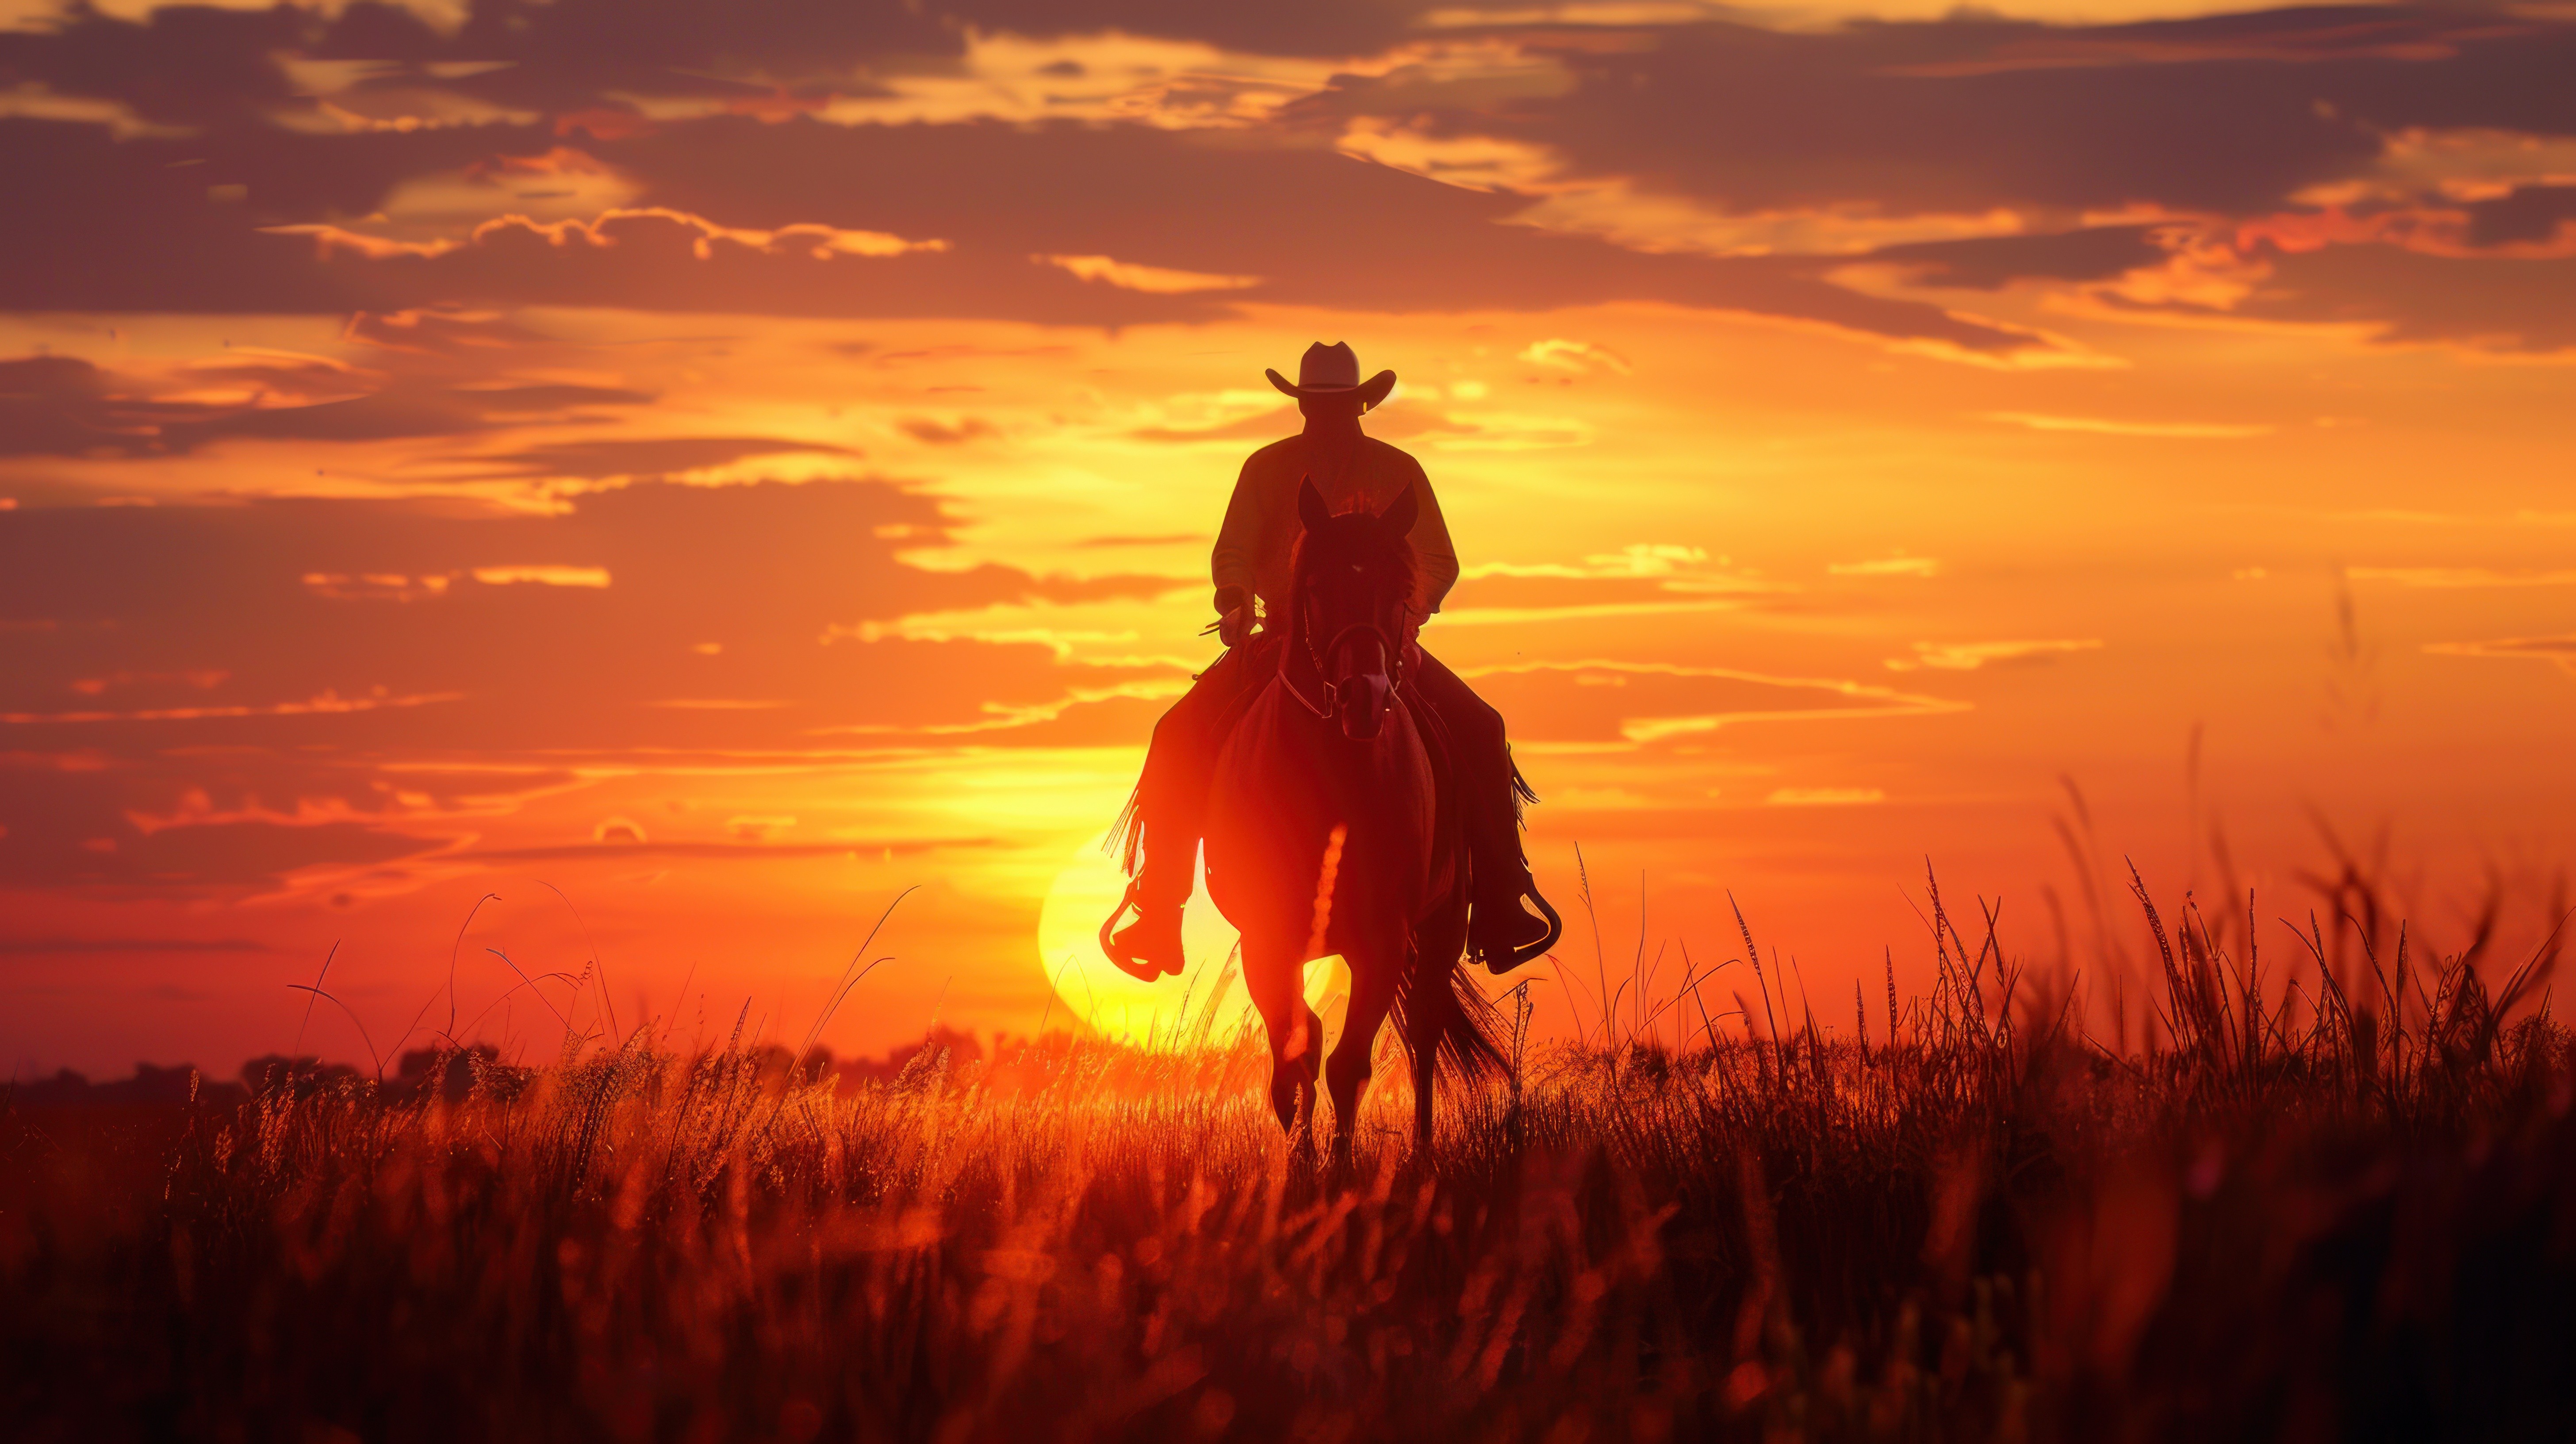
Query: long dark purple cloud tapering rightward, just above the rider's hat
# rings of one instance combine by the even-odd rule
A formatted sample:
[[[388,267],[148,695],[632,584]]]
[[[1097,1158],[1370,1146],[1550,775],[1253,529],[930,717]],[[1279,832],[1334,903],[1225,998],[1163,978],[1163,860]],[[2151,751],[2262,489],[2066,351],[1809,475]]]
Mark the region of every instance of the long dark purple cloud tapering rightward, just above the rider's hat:
[[[1012,255],[1046,237],[1043,255],[1115,255],[1131,266],[1265,278],[1242,291],[1159,297],[1203,309],[1224,304],[1213,297],[1381,312],[1662,299],[1968,351],[2038,346],[2025,333],[1922,302],[1847,291],[1780,258],[1641,255],[1595,237],[1502,224],[1522,199],[1461,191],[1306,144],[1216,144],[1146,126],[788,121],[770,126],[757,160],[744,162],[737,144],[750,134],[744,124],[703,121],[603,147],[603,155],[647,178],[647,199],[690,214],[742,217],[734,224],[806,217],[943,235],[961,253],[1012,248]],[[1175,211],[1172,196],[1188,196],[1188,209]],[[860,222],[860,214],[876,219]],[[1370,237],[1365,266],[1350,258],[1355,235]]]

